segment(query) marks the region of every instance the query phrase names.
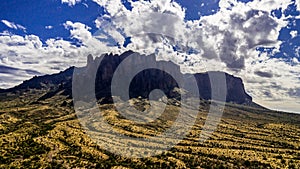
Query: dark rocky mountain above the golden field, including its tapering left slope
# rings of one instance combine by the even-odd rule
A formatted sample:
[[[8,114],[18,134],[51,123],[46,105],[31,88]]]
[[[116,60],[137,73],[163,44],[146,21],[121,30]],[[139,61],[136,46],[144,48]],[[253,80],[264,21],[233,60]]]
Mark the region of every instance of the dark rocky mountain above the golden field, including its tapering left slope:
[[[114,76],[114,73],[116,72],[118,66],[120,66],[120,64],[124,61],[124,59],[126,59],[127,57],[131,57],[132,54],[139,55],[131,51],[125,52],[121,55],[106,54],[106,55],[102,55],[101,57],[97,57],[95,59],[93,59],[93,57],[89,55],[87,59],[86,67],[75,68],[76,69],[75,72],[77,73],[75,74],[75,76],[79,77],[76,78],[75,83],[79,84],[76,86],[81,86],[80,84],[85,84],[87,82],[92,82],[92,83],[95,82],[94,86],[95,86],[95,94],[97,99],[111,98],[111,85],[112,85],[112,78]],[[143,56],[143,57],[148,57],[150,59],[149,62],[155,60],[154,56]],[[123,72],[122,78],[126,80],[128,71],[130,71],[131,67],[138,66],[139,63],[140,62],[138,59],[130,62],[128,65],[125,66],[122,65],[121,66],[122,70],[120,71]],[[211,99],[211,84],[210,84],[209,73],[181,74],[179,66],[175,65],[172,62],[157,61],[157,63],[158,64],[162,63],[161,64],[162,68],[164,65],[171,67],[172,71],[174,71],[173,75],[175,74],[176,76],[182,76],[184,81],[187,81],[185,83],[186,88],[183,87],[184,90],[187,90],[187,92],[189,86],[188,79],[191,76],[194,76],[198,85],[200,98],[205,100]],[[25,81],[23,84],[19,86],[16,86],[8,90],[4,90],[4,92],[46,88],[50,91],[49,92],[50,94],[48,93],[48,95],[44,96],[44,98],[42,99],[51,97],[52,95],[61,91],[62,94],[69,95],[71,97],[72,80],[74,80],[72,79],[74,77],[73,70],[74,68],[72,67],[58,74],[34,77],[31,80]],[[162,70],[146,69],[137,73],[133,77],[129,85],[129,96],[131,98],[136,98],[139,96],[146,98],[149,96],[149,93],[153,89],[161,89],[168,97],[180,99],[179,97],[180,95],[177,92],[178,90],[175,90],[179,87],[179,84],[170,74]],[[218,74],[223,72],[214,72],[214,73]],[[225,77],[226,77],[225,83],[227,86],[226,102],[233,102],[238,104],[252,102],[252,98],[245,92],[243,82],[240,78],[234,77],[227,73],[225,73]],[[118,85],[122,85],[122,84],[118,84]],[[79,88],[77,90],[82,91],[82,95],[84,95],[86,91],[89,89]]]

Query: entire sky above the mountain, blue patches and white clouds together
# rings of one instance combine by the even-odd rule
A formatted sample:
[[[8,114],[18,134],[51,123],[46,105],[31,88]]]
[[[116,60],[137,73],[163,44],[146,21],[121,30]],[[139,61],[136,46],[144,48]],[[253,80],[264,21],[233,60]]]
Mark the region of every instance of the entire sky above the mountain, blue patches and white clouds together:
[[[0,88],[133,50],[228,72],[255,102],[300,112],[299,13],[300,0],[2,0]]]

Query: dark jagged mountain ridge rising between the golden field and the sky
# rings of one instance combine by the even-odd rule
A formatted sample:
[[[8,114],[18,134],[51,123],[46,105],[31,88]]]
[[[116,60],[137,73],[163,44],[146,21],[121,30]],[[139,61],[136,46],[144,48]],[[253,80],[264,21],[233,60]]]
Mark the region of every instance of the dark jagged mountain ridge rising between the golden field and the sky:
[[[87,65],[85,67],[70,67],[56,74],[35,76],[32,79],[24,81],[20,85],[17,85],[10,89],[0,90],[0,92],[16,93],[20,91],[27,91],[30,89],[45,89],[48,90],[48,92],[40,98],[41,100],[52,97],[57,93],[66,95],[69,98],[71,98],[73,72],[76,69],[80,70],[79,72],[83,72],[81,75],[83,77],[83,83],[87,80],[93,80],[89,79],[89,76],[91,74],[90,72],[97,71],[95,79],[95,91],[97,99],[101,99],[103,97],[111,97],[111,80],[114,75],[114,72],[117,69],[117,67],[121,64],[121,62],[125,58],[129,57],[131,54],[134,54],[134,52],[127,51],[121,55],[105,54],[101,57],[96,57],[95,59],[91,55],[89,55],[87,57]],[[175,65],[172,62],[168,62],[168,64]],[[175,69],[177,68],[179,69],[178,65],[175,66]],[[192,75],[195,77],[199,88],[200,98],[204,100],[211,99],[211,84],[209,79],[209,73],[210,72],[184,74],[187,76]],[[252,101],[252,97],[246,93],[241,78],[235,77],[228,73],[225,73],[225,77],[227,86],[226,102],[247,105],[254,104]],[[167,81],[161,82],[159,80]],[[129,86],[129,95],[131,97],[138,97],[140,95],[142,95],[143,97],[147,97],[150,91],[159,88],[163,89],[163,91],[165,91],[165,93],[167,93],[168,96],[176,97],[176,93],[173,92],[173,89],[175,87],[178,87],[178,84],[176,84],[176,81],[174,81],[174,79],[172,79],[172,77],[170,77],[170,75],[168,75],[167,73],[158,70],[144,70],[143,72],[140,72],[138,75],[136,75],[133,79],[133,82],[131,82],[131,85]]]

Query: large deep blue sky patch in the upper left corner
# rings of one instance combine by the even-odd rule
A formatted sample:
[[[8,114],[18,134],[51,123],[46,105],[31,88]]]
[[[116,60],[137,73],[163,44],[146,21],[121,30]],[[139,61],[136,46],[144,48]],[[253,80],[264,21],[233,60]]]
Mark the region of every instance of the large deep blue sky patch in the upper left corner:
[[[70,7],[59,0],[5,0],[0,7],[1,19],[23,25],[26,27],[26,33],[9,29],[5,24],[0,25],[0,30],[9,30],[19,35],[35,34],[44,41],[56,37],[68,39],[70,33],[63,26],[68,20],[81,22],[96,29],[93,22],[97,16],[103,14],[104,9],[92,1],[87,1],[86,4],[88,8],[83,4]],[[46,26],[53,28],[46,29]]]

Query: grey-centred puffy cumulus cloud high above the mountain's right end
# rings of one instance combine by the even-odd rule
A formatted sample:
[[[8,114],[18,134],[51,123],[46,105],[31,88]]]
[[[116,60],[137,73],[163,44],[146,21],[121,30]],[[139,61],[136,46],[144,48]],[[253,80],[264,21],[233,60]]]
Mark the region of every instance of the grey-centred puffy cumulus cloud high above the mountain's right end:
[[[251,55],[257,47],[279,49],[279,31],[287,22],[284,18],[273,17],[271,11],[284,11],[290,2],[265,3],[267,2],[254,0],[245,4],[234,0],[221,0],[219,12],[201,19],[204,27],[207,27],[204,29],[205,34],[208,32],[218,37],[217,41],[212,38],[207,40],[218,44],[214,46],[214,51],[217,51],[220,59],[229,68],[244,68],[246,58],[257,56]]]

